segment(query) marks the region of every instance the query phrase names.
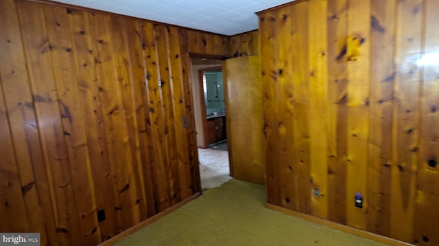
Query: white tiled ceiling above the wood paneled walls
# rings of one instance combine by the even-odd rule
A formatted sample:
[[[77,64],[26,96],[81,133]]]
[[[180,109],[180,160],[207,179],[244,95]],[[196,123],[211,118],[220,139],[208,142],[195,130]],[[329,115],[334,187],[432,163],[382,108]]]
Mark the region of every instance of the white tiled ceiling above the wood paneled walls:
[[[292,0],[54,0],[224,35],[258,28],[254,12]]]

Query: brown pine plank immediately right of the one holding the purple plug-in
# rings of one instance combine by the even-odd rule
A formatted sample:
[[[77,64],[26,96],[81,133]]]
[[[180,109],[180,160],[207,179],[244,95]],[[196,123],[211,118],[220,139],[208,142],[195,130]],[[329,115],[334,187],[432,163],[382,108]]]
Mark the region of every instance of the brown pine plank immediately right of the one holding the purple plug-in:
[[[372,1],[368,230],[390,233],[390,166],[396,1]]]

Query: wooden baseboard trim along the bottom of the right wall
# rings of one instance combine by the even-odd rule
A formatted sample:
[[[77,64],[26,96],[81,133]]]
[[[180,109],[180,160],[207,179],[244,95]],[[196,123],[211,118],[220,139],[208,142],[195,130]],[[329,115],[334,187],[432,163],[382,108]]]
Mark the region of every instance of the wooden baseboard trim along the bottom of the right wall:
[[[265,208],[269,208],[271,210],[276,210],[278,212],[285,213],[287,215],[292,215],[292,216],[298,217],[300,219],[305,219],[307,221],[318,223],[322,226],[327,226],[327,227],[333,228],[335,230],[341,230],[342,232],[353,234],[355,236],[361,236],[363,238],[368,238],[368,239],[370,239],[372,241],[376,241],[378,243],[384,243],[386,245],[391,245],[391,246],[415,246],[415,245],[412,245],[410,243],[405,243],[403,241],[399,241],[399,240],[396,240],[393,238],[388,238],[386,236],[374,234],[372,232],[366,232],[364,230],[359,230],[357,228],[351,228],[350,226],[345,226],[345,225],[342,225],[340,223],[335,223],[335,222],[329,221],[327,219],[320,219],[318,217],[313,217],[311,215],[305,215],[302,213],[298,213],[296,211],[289,210],[287,208],[282,208],[280,206],[276,206],[273,204],[267,203],[267,204],[265,204]]]

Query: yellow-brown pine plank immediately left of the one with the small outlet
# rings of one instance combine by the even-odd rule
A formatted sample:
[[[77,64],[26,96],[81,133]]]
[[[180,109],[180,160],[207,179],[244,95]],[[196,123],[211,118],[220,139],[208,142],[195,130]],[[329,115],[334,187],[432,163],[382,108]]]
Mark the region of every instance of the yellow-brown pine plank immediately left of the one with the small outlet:
[[[292,74],[294,90],[294,138],[293,160],[295,163],[294,185],[296,210],[311,214],[310,150],[309,150],[309,71],[308,71],[308,14],[307,1],[297,3],[292,10]],[[305,51],[305,52],[300,52]]]

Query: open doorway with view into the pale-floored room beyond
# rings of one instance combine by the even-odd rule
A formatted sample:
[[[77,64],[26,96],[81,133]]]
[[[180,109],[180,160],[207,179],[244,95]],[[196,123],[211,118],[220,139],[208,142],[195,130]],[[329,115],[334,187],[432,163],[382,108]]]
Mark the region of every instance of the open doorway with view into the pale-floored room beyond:
[[[211,189],[230,177],[222,60],[191,58],[195,131],[202,189]]]

